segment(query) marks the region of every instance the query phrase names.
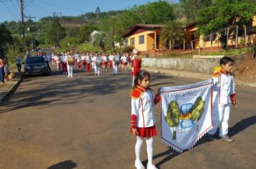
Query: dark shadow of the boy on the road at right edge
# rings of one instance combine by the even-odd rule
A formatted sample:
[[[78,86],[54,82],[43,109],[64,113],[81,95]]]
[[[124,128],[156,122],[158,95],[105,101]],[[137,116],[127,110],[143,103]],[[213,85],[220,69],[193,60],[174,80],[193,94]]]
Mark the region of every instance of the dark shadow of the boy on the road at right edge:
[[[250,125],[255,125],[255,124],[256,124],[256,116],[243,119],[237,122],[237,124],[235,124],[233,127],[229,129],[229,135],[230,136],[237,135],[238,132],[242,132],[242,130],[245,130],[247,127],[250,127]]]

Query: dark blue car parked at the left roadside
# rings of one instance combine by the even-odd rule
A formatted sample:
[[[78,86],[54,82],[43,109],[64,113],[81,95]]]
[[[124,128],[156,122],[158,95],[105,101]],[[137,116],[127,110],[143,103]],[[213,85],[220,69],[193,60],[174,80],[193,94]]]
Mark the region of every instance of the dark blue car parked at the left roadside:
[[[31,74],[50,74],[43,57],[27,57],[24,65],[24,73],[26,76]]]

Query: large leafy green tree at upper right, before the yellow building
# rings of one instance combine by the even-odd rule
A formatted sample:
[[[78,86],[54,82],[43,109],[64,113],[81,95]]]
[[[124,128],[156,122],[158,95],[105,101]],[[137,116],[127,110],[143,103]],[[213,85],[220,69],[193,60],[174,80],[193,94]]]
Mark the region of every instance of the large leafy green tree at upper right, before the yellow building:
[[[197,24],[199,34],[211,34],[228,26],[249,24],[252,22],[256,6],[237,0],[217,0],[212,6],[198,12]],[[233,32],[229,32],[228,35]],[[227,47],[227,32],[219,32],[221,47]]]

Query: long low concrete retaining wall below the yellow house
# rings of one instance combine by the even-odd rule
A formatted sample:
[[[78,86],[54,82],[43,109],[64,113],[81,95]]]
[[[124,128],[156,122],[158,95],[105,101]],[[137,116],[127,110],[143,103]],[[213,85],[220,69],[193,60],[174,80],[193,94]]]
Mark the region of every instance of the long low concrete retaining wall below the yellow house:
[[[235,60],[234,66],[242,62],[244,59],[250,59],[251,57],[251,53],[233,56],[232,58]],[[219,66],[219,59],[143,58],[142,66],[156,69],[175,69],[211,74],[213,72],[213,68]]]

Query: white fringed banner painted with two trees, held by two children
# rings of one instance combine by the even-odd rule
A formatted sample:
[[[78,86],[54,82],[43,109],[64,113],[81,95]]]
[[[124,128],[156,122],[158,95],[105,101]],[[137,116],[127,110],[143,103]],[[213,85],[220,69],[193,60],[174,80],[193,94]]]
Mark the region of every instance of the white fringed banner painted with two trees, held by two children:
[[[161,139],[179,153],[188,150],[212,127],[212,80],[162,87]]]

